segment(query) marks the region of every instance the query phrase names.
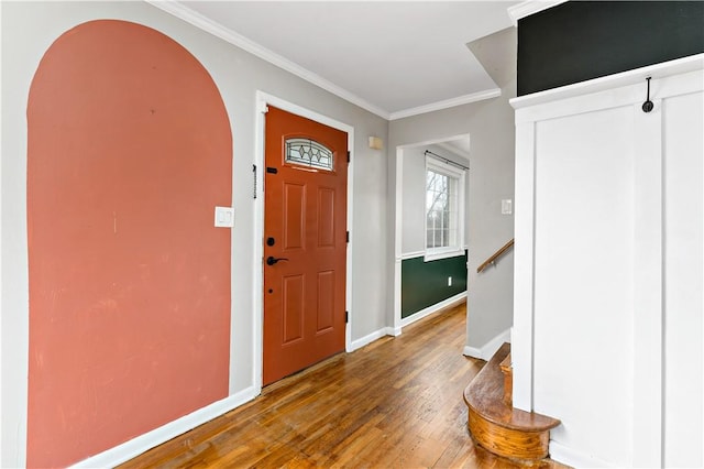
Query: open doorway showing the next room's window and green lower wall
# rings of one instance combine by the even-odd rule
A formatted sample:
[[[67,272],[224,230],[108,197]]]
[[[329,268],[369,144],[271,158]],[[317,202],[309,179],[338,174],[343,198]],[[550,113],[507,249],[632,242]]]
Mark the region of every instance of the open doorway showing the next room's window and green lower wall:
[[[448,194],[443,196],[450,197],[449,192],[454,192],[455,201],[447,204],[450,210],[441,212],[444,219],[447,216],[461,218],[459,221],[465,226],[469,166],[469,134],[396,149],[394,335],[399,335],[404,326],[466,298],[466,229],[457,222],[438,223],[437,204],[432,204],[432,198],[438,197],[436,176],[444,178],[447,183],[440,187],[447,188]],[[457,186],[454,189],[452,184]],[[452,210],[454,215],[449,214]],[[449,238],[439,238],[439,233]],[[440,247],[438,239],[442,240]],[[417,284],[411,285],[414,279]]]

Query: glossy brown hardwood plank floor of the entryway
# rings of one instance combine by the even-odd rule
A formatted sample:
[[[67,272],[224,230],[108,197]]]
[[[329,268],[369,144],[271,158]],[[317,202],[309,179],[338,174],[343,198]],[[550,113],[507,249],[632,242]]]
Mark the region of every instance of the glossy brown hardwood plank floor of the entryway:
[[[264,389],[123,468],[526,468],[472,443],[464,305]],[[534,467],[562,468],[553,461]]]

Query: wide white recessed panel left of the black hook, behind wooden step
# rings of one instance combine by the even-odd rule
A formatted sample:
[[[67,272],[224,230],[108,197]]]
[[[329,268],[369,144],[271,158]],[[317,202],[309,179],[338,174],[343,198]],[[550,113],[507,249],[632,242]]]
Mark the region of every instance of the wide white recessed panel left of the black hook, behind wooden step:
[[[632,418],[632,127],[630,107],[536,124],[534,407],[562,421],[556,441],[618,465]]]

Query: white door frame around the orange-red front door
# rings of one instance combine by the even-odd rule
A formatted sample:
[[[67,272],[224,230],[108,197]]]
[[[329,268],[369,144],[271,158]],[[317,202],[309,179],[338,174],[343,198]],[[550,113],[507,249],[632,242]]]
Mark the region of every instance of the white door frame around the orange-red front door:
[[[264,141],[266,137],[265,128],[265,114],[267,106],[274,106],[278,109],[283,109],[286,112],[305,117],[314,120],[318,123],[331,127],[333,129],[341,130],[348,134],[348,150],[352,156],[348,166],[348,230],[350,230],[350,242],[348,243],[346,252],[346,279],[345,279],[345,310],[349,312],[348,324],[345,325],[344,332],[344,349],[351,351],[352,345],[352,320],[354,318],[352,309],[352,247],[353,247],[353,231],[352,231],[352,187],[353,187],[353,165],[354,165],[354,128],[344,122],[331,119],[327,116],[320,114],[310,109],[277,98],[276,96],[268,95],[264,91],[256,91],[256,106],[255,106],[255,132],[254,139],[254,165],[255,172],[255,190],[256,198],[254,199],[254,262],[252,265],[252,275],[254,279],[252,297],[253,304],[253,320],[252,320],[252,383],[256,389],[256,394],[262,390],[262,367],[263,367],[263,338],[264,338]]]

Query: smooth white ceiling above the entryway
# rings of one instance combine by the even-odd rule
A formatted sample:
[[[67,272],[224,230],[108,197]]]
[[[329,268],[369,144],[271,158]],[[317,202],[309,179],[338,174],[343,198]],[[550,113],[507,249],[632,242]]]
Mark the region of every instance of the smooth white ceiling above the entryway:
[[[516,1],[154,2],[384,118],[498,95],[466,44]],[[211,31],[212,32],[212,31]]]

